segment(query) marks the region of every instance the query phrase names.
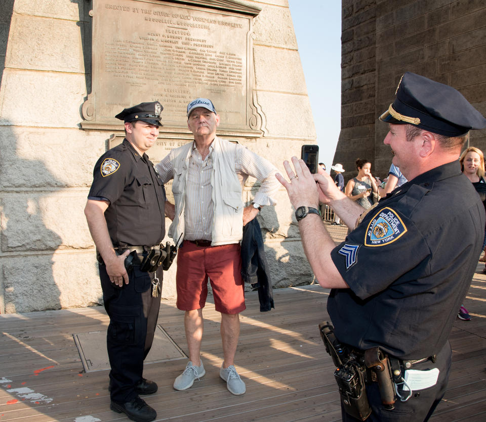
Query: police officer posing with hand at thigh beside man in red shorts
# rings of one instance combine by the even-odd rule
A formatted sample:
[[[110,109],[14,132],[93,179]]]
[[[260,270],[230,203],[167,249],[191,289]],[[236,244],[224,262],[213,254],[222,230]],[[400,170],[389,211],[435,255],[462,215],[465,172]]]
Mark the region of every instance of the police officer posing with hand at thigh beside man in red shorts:
[[[136,421],[156,417],[139,394],[157,391],[142,370],[157,323],[163,270],[147,270],[146,257],[160,253],[166,193],[145,152],[157,139],[162,110],[156,101],[115,116],[125,121],[125,139],[96,163],[85,208],[110,317],[110,408]]]

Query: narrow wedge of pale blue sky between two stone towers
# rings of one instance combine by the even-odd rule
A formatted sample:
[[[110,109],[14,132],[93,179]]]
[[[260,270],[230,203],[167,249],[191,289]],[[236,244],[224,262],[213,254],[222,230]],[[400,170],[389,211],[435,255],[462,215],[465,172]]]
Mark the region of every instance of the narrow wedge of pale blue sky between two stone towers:
[[[341,128],[341,2],[289,0],[314,117],[319,161],[328,171]]]

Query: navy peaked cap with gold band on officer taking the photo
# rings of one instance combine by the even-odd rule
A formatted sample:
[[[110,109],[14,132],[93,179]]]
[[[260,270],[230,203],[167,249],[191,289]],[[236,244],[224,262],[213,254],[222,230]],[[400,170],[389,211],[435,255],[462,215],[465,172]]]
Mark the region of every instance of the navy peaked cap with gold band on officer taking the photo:
[[[380,116],[383,122],[409,123],[449,137],[486,127],[486,119],[452,86],[406,72],[395,94],[395,101]]]

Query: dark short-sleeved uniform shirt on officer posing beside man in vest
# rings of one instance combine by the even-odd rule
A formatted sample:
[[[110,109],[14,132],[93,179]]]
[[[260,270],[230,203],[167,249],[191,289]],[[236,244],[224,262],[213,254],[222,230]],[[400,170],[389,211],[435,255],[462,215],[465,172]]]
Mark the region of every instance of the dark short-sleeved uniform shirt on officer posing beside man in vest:
[[[152,246],[165,236],[166,191],[147,154],[124,139],[103,154],[93,170],[88,198],[105,198],[113,245]]]

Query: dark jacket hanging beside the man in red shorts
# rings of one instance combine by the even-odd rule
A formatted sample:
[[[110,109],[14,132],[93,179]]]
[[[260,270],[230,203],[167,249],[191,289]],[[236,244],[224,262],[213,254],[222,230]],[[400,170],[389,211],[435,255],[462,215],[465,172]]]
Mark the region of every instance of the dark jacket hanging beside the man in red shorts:
[[[241,276],[245,283],[250,283],[254,289],[258,289],[260,312],[274,308],[272,282],[263,247],[262,231],[256,218],[243,227]]]

